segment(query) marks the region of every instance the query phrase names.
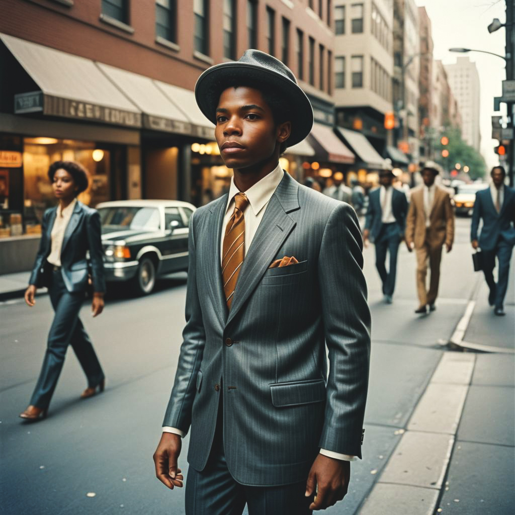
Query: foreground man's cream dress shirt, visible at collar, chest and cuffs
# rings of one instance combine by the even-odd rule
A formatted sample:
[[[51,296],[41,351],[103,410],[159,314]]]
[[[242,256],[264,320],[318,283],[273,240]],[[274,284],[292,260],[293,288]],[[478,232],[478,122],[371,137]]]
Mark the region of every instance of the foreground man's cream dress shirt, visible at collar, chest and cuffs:
[[[284,172],[281,166],[278,164],[276,168],[274,168],[267,176],[256,182],[245,192],[245,195],[249,199],[249,204],[243,212],[245,217],[245,255],[247,255],[247,251],[250,247],[250,244],[252,243],[252,239],[254,238],[261,220],[263,219],[268,202],[272,198],[273,192],[276,191],[277,186],[279,186],[279,183],[282,181],[283,175]],[[224,225],[222,226],[224,229],[222,229],[220,236],[220,263],[222,260],[221,249],[224,247],[225,227],[227,226],[227,223],[232,216],[232,212],[234,211],[234,196],[236,193],[239,193],[239,190],[234,184],[233,177],[231,179],[231,187],[229,188],[229,202],[227,203]],[[185,436],[185,433],[176,427],[164,426],[162,430],[163,433],[174,433],[181,437]],[[327,451],[325,449],[320,449],[320,454],[324,454],[330,458],[344,459],[347,461],[357,460],[356,456],[340,454],[333,451]]]

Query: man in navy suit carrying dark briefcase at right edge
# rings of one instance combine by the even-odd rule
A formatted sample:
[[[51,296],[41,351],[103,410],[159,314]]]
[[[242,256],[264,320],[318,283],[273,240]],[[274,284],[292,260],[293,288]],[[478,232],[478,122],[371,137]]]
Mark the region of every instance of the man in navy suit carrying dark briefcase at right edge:
[[[502,166],[494,166],[490,176],[490,187],[476,193],[470,239],[472,247],[479,247],[483,252],[483,271],[490,288],[488,302],[495,306],[497,316],[503,316],[511,253],[515,244],[515,191],[504,184],[506,171]],[[483,218],[483,228],[478,239],[480,218]],[[495,256],[499,261],[497,283],[493,279]]]

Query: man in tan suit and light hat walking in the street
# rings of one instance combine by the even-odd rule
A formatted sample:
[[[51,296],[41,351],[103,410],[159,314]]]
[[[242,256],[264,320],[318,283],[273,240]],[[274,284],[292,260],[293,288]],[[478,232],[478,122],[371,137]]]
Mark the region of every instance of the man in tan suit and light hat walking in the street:
[[[411,193],[406,220],[406,245],[417,252],[417,290],[420,305],[415,313],[435,311],[440,282],[442,247],[451,252],[454,241],[454,211],[449,193],[435,184],[440,165],[427,161],[422,168],[424,185]],[[426,288],[427,261],[431,268],[429,291]]]

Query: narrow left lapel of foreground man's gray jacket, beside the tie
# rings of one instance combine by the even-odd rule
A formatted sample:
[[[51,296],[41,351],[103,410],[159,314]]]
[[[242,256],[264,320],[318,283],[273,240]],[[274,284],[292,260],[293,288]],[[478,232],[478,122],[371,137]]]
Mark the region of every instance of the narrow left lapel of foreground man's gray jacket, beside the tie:
[[[211,238],[211,248],[216,249],[214,259],[209,259],[208,263],[208,285],[213,308],[218,314],[220,323],[225,325],[227,319],[227,304],[224,297],[222,286],[222,271],[220,266],[220,241],[222,234],[222,224],[227,207],[227,197],[224,195],[210,208],[211,219],[208,226],[208,237]]]

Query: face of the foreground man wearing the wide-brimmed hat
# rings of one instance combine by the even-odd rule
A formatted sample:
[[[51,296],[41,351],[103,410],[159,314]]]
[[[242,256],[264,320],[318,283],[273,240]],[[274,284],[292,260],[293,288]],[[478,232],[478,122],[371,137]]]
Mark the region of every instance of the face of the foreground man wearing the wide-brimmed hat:
[[[261,91],[240,86],[220,95],[215,138],[228,168],[241,170],[266,162],[289,131],[289,122],[276,127]]]

